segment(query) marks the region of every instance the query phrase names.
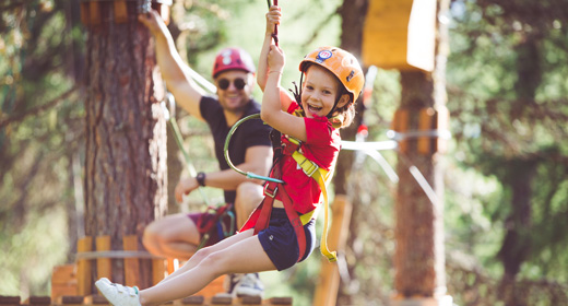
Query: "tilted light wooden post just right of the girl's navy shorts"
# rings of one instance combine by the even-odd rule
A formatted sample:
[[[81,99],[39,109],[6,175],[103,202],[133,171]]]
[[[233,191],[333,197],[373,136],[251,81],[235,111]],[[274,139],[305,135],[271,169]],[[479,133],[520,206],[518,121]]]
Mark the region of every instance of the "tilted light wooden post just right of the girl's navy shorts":
[[[329,245],[331,249],[343,252],[350,232],[352,204],[345,196],[338,195],[333,201],[332,210],[333,222],[329,235]],[[340,258],[339,260],[342,259]],[[334,306],[338,299],[339,287],[340,273],[338,262],[329,262],[328,259],[321,258],[320,283],[316,287],[312,305]]]

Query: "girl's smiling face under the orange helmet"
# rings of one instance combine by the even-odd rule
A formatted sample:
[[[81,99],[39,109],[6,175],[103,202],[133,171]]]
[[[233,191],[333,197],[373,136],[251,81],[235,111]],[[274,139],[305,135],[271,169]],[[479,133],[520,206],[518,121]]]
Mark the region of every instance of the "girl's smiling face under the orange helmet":
[[[306,111],[306,117],[326,117],[333,108],[335,99],[340,94],[340,84],[335,75],[319,64],[311,64],[306,72],[306,82],[301,90],[301,105]],[[342,96],[338,103],[338,108],[347,101]]]

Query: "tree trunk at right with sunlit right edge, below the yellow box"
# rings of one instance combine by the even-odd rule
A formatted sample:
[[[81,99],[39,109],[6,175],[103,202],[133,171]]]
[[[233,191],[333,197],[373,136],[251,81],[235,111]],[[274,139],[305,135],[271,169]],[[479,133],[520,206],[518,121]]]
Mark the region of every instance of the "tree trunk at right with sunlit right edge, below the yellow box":
[[[448,8],[449,1],[438,1],[438,15],[446,15]],[[439,22],[443,19],[437,20],[434,73],[401,72],[402,93],[399,110],[407,114],[407,125],[404,127],[406,131],[421,130],[418,126],[421,111],[445,109],[448,36],[446,24]],[[430,145],[436,141],[436,138],[431,138]],[[400,146],[398,164],[400,180],[395,204],[394,289],[403,298],[413,296],[440,298],[446,294],[443,180],[440,158],[437,148],[427,153],[419,152],[417,138],[407,138],[405,144]],[[411,168],[414,174],[411,173]],[[434,192],[430,197],[427,196],[424,186],[421,187],[418,184],[419,175],[431,186]]]

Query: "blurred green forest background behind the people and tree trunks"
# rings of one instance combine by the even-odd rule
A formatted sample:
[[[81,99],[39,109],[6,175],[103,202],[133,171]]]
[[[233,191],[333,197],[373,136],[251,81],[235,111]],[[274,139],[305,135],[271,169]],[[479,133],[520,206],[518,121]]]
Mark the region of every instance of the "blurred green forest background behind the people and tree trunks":
[[[305,54],[340,45],[339,12],[351,1],[282,2],[283,84],[292,86]],[[222,47],[260,50],[265,1],[184,0],[171,10],[178,49],[208,79]],[[52,267],[74,260],[82,235],[86,32],[79,15],[79,1],[0,3],[0,295],[48,295]],[[451,49],[452,139],[443,157],[449,294],[458,305],[504,305],[506,289],[526,305],[567,305],[568,3],[455,0],[441,17]],[[400,89],[397,71],[379,69],[365,110],[367,140],[387,140]],[[206,126],[177,117],[196,166],[216,168]],[[171,150],[169,188],[187,175]],[[394,152],[382,153],[397,164]],[[355,166],[348,273],[338,303],[384,305],[393,292],[395,184],[370,158]],[[208,196],[221,198],[213,190]],[[178,211],[169,201],[169,212]],[[192,195],[185,204],[202,202]],[[267,295],[308,305],[318,271],[312,256],[265,273]]]

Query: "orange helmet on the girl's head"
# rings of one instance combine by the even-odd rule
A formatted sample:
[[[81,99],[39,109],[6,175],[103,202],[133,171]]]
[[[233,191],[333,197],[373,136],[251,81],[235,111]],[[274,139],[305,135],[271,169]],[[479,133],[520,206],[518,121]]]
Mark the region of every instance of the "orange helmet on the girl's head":
[[[305,73],[309,63],[328,69],[353,95],[353,102],[357,99],[365,84],[365,76],[359,62],[352,54],[336,47],[319,47],[304,58],[299,63],[299,71]]]

